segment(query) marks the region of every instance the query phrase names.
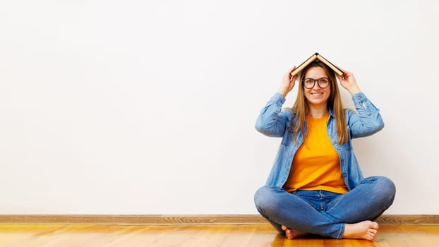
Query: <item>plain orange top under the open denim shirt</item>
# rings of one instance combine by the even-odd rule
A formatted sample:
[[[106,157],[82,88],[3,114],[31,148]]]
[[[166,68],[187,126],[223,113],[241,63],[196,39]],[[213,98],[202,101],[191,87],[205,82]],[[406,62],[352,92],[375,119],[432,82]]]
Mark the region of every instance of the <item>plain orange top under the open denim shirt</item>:
[[[314,119],[306,117],[308,133],[293,158],[293,164],[284,188],[289,191],[331,191],[346,193],[339,157],[327,137],[329,114]]]

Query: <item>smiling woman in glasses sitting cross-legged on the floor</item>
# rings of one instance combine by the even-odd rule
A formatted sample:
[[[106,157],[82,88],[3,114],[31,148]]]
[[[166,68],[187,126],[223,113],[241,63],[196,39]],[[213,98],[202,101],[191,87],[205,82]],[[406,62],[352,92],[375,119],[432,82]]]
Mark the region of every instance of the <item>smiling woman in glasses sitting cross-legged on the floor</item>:
[[[296,82],[291,71],[255,125],[282,137],[267,183],[255,193],[258,212],[288,239],[317,234],[373,241],[374,220],[392,205],[395,185],[384,176],[363,177],[351,138],[380,131],[379,110],[348,71],[337,77],[356,112],[343,109],[335,73],[320,61],[302,71],[294,106],[282,110]]]

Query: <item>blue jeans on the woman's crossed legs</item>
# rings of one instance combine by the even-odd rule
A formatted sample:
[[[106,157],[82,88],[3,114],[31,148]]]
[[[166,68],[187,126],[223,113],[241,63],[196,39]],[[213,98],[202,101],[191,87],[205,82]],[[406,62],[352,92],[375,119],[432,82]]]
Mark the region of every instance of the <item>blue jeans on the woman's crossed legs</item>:
[[[384,176],[363,179],[348,193],[294,191],[263,186],[255,193],[260,215],[279,233],[296,231],[342,239],[345,224],[375,220],[393,203],[395,184]]]

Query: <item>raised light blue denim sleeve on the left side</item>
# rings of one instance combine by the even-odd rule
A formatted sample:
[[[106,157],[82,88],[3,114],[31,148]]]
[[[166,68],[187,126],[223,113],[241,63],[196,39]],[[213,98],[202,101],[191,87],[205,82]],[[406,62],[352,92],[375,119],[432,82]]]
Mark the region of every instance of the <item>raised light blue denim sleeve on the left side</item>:
[[[291,110],[282,111],[285,97],[279,92],[273,95],[265,107],[260,110],[255,128],[260,133],[271,137],[282,137],[289,127]]]

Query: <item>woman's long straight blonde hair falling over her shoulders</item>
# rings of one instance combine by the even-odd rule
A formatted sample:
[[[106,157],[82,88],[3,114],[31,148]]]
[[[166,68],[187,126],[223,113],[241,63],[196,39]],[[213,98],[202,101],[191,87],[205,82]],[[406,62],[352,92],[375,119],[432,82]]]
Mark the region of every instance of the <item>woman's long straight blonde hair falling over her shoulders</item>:
[[[306,114],[308,114],[309,107],[308,102],[303,94],[303,78],[305,78],[306,71],[309,68],[320,67],[323,68],[327,77],[330,78],[330,97],[327,99],[327,107],[330,107],[335,114],[335,125],[337,128],[337,134],[339,136],[338,143],[346,143],[348,140],[347,133],[347,125],[346,120],[344,119],[344,109],[342,106],[342,99],[340,98],[340,92],[337,85],[337,79],[335,78],[335,73],[328,66],[323,64],[321,61],[316,61],[310,65],[308,65],[305,69],[303,69],[302,73],[299,76],[299,90],[297,92],[296,102],[292,107],[292,111],[294,112],[294,117],[291,119],[291,124],[289,127],[289,132],[292,133],[291,139],[296,142],[296,137],[300,133],[302,136],[305,136],[305,118]]]

